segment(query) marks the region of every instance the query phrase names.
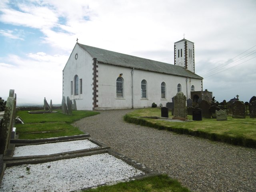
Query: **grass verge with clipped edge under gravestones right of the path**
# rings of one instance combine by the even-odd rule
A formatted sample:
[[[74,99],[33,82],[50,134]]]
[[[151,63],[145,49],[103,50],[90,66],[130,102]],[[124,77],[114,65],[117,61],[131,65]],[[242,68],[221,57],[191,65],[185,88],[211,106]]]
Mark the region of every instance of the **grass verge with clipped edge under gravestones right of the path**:
[[[203,118],[202,121],[191,122],[167,122],[138,116],[161,116],[160,108],[138,109],[126,114],[124,120],[130,123],[140,124],[165,129],[180,134],[189,134],[214,141],[227,142],[234,145],[256,148],[256,119],[232,118],[227,121]],[[172,116],[169,116],[170,118]],[[192,120],[192,116],[188,116]]]

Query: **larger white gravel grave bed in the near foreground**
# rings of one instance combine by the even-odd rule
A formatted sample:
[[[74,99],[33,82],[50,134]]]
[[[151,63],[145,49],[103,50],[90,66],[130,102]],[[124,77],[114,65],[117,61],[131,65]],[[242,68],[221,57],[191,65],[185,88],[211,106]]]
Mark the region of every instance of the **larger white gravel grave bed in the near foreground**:
[[[6,168],[0,191],[68,192],[139,176],[144,172],[104,153]]]

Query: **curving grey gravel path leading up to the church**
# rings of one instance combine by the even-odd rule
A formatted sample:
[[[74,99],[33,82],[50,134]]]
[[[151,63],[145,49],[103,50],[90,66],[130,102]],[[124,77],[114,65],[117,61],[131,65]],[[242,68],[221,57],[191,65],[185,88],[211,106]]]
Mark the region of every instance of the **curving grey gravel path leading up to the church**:
[[[73,125],[194,192],[256,191],[256,149],[124,122],[130,111],[100,111]]]

